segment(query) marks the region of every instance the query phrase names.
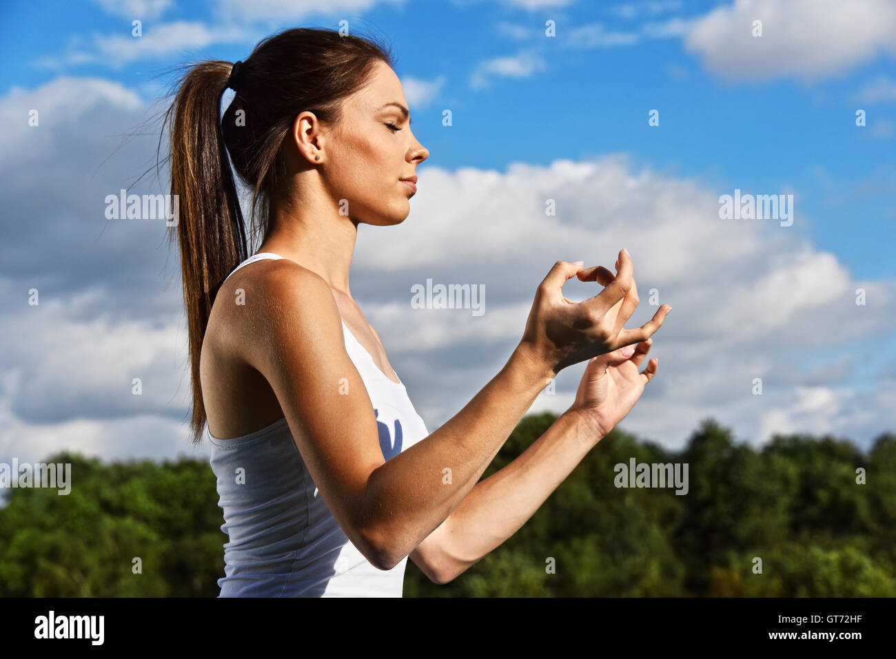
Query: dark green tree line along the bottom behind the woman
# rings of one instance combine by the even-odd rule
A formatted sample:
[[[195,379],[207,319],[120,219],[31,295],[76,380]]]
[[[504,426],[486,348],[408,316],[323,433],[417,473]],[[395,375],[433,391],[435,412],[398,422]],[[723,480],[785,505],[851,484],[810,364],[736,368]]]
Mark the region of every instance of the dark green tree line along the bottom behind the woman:
[[[523,418],[482,478],[555,420]],[[72,464],[72,491],[5,492],[0,595],[219,594],[227,536],[206,460],[45,462]],[[633,464],[686,465],[686,493],[619,486],[619,466]],[[404,595],[896,596],[896,435],[867,452],[802,434],[754,449],[707,419],[671,451],[616,428],[452,582],[435,585],[408,561]]]

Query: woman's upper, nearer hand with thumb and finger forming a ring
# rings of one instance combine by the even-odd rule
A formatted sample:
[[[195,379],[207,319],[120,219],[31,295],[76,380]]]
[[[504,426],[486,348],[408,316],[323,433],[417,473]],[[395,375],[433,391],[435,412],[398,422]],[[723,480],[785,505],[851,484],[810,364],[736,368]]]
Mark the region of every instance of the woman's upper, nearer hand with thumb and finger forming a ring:
[[[557,261],[547,273],[538,285],[521,340],[555,374],[566,366],[650,338],[672,308],[662,304],[640,328],[625,329],[625,321],[638,306],[638,287],[628,252],[619,252],[616,275],[602,266],[583,270],[580,262]],[[563,285],[576,274],[582,281],[599,282],[604,289],[584,302],[567,300]]]

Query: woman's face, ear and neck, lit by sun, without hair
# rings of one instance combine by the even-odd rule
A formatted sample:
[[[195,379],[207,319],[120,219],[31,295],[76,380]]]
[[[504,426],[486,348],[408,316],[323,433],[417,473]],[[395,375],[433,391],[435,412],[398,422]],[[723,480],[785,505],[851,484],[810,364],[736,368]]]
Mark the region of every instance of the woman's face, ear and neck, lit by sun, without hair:
[[[297,261],[351,297],[358,225],[403,222],[415,193],[400,179],[417,175],[429,157],[399,106],[408,108],[401,81],[377,62],[373,80],[346,100],[340,124],[323,124],[313,112],[297,115],[285,149],[290,202],[272,203],[271,234],[260,252]],[[348,217],[340,215],[340,200],[348,201]]]

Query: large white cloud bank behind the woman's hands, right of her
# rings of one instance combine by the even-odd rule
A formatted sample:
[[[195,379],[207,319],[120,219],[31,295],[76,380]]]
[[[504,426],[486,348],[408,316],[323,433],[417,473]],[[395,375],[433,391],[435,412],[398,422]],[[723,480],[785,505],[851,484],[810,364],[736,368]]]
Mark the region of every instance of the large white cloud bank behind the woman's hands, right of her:
[[[797,415],[805,405],[800,388],[849,389],[839,383],[853,374],[854,361],[838,356],[836,368],[804,370],[792,364],[793,355],[830,364],[831,351],[889,336],[896,321],[896,282],[857,281],[833,254],[806,243],[797,231],[811,218],[798,211],[798,197],[791,230],[768,220],[720,220],[718,196],[726,191],[638,171],[621,156],[516,164],[504,173],[425,166],[419,176],[409,218],[388,231],[362,230],[356,263],[366,278],[400,282],[400,299],[366,313],[402,380],[418,383],[409,391],[429,424],[444,423],[501,368],[519,341],[535,287],[557,259],[612,267],[625,246],[642,300],[626,326],[656,311],[651,288],[657,304],[675,307],[651,351],[659,376],[623,423],[670,445],[710,415],[752,441],[791,405],[788,418],[796,424],[804,418]],[[545,216],[547,199],[556,201],[556,218]],[[485,284],[486,313],[409,309],[409,287],[426,278]],[[874,303],[857,306],[857,287]],[[573,279],[564,295],[582,300],[595,288]],[[577,364],[561,372],[556,394],[542,393],[530,412],[562,412],[582,370]],[[433,372],[438,393],[430,389]],[[756,377],[765,383],[764,397],[751,391]],[[884,403],[886,396],[854,392],[851,407],[820,418],[841,414],[842,432],[866,441],[892,425]],[[877,410],[878,417],[854,410]]]

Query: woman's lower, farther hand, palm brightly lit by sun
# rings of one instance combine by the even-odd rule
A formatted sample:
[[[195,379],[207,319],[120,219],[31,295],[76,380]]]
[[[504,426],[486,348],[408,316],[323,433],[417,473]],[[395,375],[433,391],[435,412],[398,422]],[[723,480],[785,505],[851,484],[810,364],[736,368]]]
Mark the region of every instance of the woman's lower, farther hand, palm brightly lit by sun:
[[[651,359],[643,372],[638,372],[644,357],[650,352],[652,338],[634,346],[626,346],[605,355],[592,357],[582,375],[575,402],[564,414],[581,416],[606,437],[641,398],[646,385],[657,374],[659,360]],[[634,352],[625,354],[625,350]]]

